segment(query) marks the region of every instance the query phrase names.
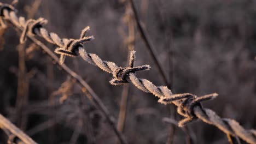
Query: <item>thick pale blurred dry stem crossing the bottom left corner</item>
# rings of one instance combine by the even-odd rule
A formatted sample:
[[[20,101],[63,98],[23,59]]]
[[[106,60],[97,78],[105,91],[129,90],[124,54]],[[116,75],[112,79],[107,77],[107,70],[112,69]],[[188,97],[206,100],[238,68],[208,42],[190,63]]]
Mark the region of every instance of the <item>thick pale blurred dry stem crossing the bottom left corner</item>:
[[[23,131],[17,128],[13,123],[11,123],[7,118],[0,114],[0,128],[10,131],[11,134],[19,137],[24,143],[32,144],[34,142],[29,136],[27,136]]]

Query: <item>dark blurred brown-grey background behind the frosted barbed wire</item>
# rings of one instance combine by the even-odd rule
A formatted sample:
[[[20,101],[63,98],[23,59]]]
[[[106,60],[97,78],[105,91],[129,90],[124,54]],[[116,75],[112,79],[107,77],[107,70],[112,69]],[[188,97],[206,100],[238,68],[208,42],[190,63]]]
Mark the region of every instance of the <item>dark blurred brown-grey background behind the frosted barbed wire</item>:
[[[2,1],[10,3],[10,1]],[[256,1],[252,0],[135,0],[156,56],[173,93],[219,97],[203,106],[220,117],[236,119],[246,129],[256,128]],[[127,65],[130,50],[136,64],[150,64],[138,77],[166,85],[140,37],[130,4],[125,0],[28,0],[16,5],[18,15],[48,20],[49,32],[79,38],[90,26],[95,40],[88,52],[103,60]],[[13,27],[0,33],[0,113],[38,143],[118,143],[106,119],[40,47],[19,44]],[[54,51],[56,46],[45,42]],[[129,143],[229,143],[226,135],[201,121],[181,129],[176,107],[158,103],[153,94],[133,85],[112,86],[112,75],[83,61],[65,63],[81,75],[119,120]],[[122,100],[122,98],[124,98]],[[127,100],[125,100],[127,98]],[[123,101],[123,103],[121,103]],[[125,121],[120,107],[127,104]],[[189,135],[189,136],[188,136]],[[7,135],[0,131],[0,143]]]

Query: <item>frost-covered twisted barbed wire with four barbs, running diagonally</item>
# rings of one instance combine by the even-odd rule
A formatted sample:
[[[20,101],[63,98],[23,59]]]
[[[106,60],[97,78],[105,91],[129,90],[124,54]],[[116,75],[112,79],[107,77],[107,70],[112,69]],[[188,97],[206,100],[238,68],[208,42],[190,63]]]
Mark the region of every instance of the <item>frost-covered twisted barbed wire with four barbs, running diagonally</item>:
[[[83,44],[87,41],[94,39],[93,36],[85,37],[86,32],[89,27],[83,29],[79,39],[61,39],[55,33],[49,33],[42,25],[46,23],[38,22],[39,20],[34,20],[28,22],[24,17],[17,17],[15,9],[11,8],[7,4],[0,3],[0,15],[4,20],[10,21],[14,26],[25,29],[26,35],[38,35],[44,38],[49,43],[59,46],[55,52],[60,54],[61,63],[64,62],[65,56],[80,56],[84,61],[96,65],[103,71],[113,75],[114,79],[110,81],[112,85],[121,85],[124,83],[133,83],[138,89],[144,92],[152,93],[159,98],[159,103],[176,105],[177,112],[185,117],[179,122],[179,127],[194,121],[196,119],[201,119],[203,122],[215,125],[218,129],[222,130],[227,135],[232,135],[234,137],[240,137],[248,143],[256,143],[256,132],[255,130],[247,130],[243,128],[234,119],[220,118],[216,112],[206,109],[201,105],[202,101],[212,100],[217,97],[217,93],[203,95],[202,97],[197,97],[194,94],[183,93],[183,94],[173,94],[170,89],[166,86],[155,86],[152,82],[146,79],[139,79],[136,76],[136,71],[149,70],[149,65],[141,65],[139,67],[134,67],[135,63],[135,51],[131,52],[129,67],[118,67],[114,62],[103,61],[95,53],[88,53],[85,51]],[[39,18],[43,21],[42,18]],[[30,21],[30,20],[28,20]],[[35,22],[36,25],[35,25]],[[28,28],[26,28],[28,27]],[[24,31],[25,31],[24,30]]]

